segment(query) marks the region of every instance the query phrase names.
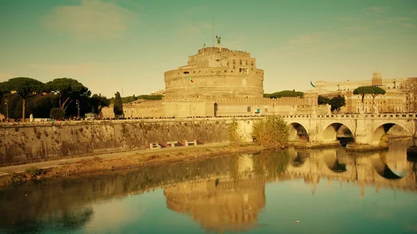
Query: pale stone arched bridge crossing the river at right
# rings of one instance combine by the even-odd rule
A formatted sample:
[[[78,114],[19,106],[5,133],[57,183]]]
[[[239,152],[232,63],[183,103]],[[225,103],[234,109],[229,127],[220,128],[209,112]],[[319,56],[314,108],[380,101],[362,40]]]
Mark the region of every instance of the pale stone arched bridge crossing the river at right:
[[[309,142],[334,142],[337,137],[352,137],[357,144],[377,145],[394,126],[401,135],[417,136],[415,113],[283,117],[291,126],[291,139],[305,137]]]

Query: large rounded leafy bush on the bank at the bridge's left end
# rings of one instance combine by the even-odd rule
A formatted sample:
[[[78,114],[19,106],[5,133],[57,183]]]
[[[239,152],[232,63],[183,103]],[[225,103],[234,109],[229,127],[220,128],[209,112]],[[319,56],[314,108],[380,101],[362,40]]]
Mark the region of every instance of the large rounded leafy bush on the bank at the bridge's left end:
[[[268,115],[265,119],[254,122],[252,137],[261,146],[279,147],[288,142],[289,126],[280,116]]]

